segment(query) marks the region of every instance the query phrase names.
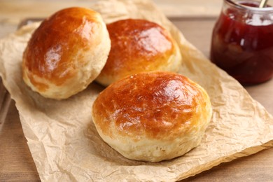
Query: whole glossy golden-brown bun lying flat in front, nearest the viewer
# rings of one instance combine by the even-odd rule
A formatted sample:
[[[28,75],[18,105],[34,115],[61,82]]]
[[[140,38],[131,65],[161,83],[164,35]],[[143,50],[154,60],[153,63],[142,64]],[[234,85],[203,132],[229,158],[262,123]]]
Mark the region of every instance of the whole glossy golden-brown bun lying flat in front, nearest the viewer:
[[[102,139],[126,158],[158,162],[198,146],[211,120],[207,92],[171,72],[142,72],[106,87],[92,106]]]

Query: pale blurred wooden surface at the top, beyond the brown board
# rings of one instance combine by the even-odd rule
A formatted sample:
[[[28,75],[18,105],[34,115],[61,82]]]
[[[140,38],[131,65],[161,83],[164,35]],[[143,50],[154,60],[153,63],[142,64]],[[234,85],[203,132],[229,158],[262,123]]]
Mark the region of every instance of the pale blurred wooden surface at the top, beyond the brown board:
[[[222,0],[153,1],[168,18],[216,17],[223,2]],[[96,2],[97,0],[0,0],[0,38],[15,31],[20,21],[25,18],[45,18],[62,8],[89,7]]]

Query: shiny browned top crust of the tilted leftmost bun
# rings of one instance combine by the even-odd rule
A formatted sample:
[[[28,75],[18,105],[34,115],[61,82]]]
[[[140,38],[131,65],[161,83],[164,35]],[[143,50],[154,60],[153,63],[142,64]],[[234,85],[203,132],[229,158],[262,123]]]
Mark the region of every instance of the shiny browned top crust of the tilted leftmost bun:
[[[85,64],[78,50],[88,50],[98,43],[93,38],[100,29],[96,14],[85,8],[66,8],[44,20],[34,31],[24,52],[23,66],[30,72],[29,80],[40,90],[47,85],[37,83],[34,76],[62,85]]]

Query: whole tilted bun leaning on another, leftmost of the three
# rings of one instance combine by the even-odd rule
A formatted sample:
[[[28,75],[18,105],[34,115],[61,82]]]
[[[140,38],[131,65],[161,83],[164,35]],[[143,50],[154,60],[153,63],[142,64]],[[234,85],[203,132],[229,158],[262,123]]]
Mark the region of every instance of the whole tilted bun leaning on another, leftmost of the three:
[[[99,13],[87,8],[59,10],[32,34],[22,59],[22,77],[44,97],[66,99],[99,75],[110,48]]]

